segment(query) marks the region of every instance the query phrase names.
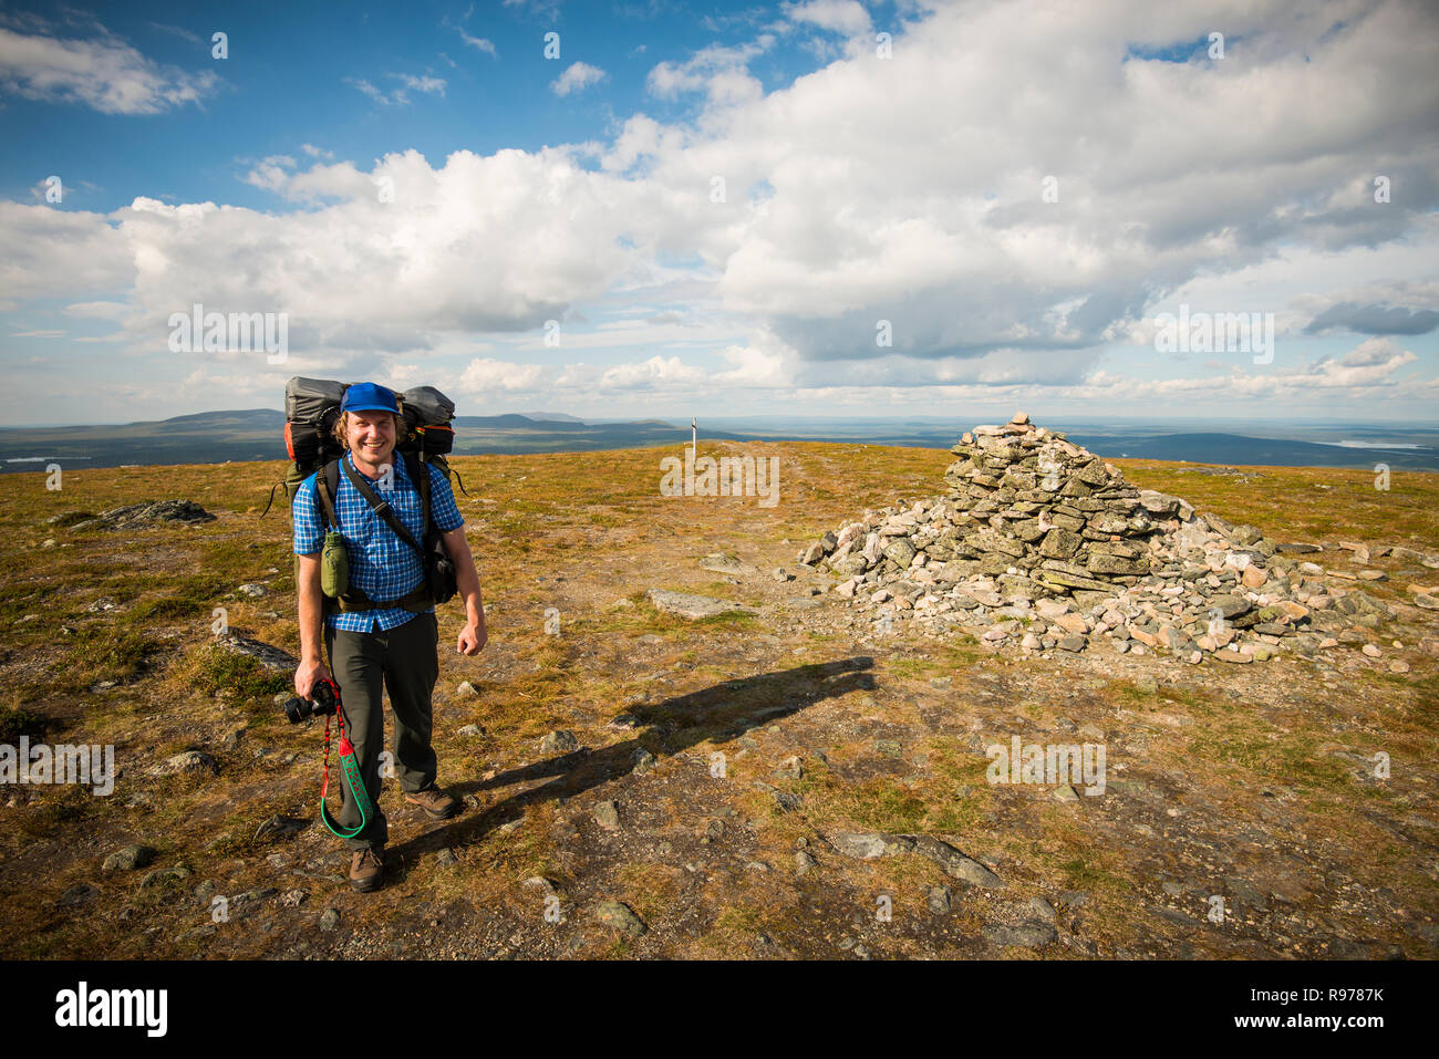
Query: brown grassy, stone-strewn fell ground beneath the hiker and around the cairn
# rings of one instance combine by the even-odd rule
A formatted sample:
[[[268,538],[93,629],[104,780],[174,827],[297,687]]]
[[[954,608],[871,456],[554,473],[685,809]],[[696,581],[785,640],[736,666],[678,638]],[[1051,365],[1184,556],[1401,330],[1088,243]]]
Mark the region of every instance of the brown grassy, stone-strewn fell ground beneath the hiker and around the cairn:
[[[1032,565],[944,577],[941,564],[989,558],[958,554],[977,525],[951,532],[924,504],[951,488],[943,473],[953,458],[728,450],[751,449],[783,459],[784,502],[773,512],[745,498],[659,498],[649,452],[456,460],[491,613],[491,645],[463,659],[448,646],[456,609],[442,612],[440,781],[466,810],[432,822],[401,807],[390,781],[387,885],[373,895],[350,892],[348,858],[317,820],[319,730],[278,718],[288,660],[252,646],[296,645],[285,527],[273,515],[260,522],[253,501],[262,471],[233,485],[204,469],[95,475],[66,485],[68,496],[4,505],[24,509],[9,515],[0,600],[4,738],[114,742],[122,770],[108,799],[6,788],[6,954],[1439,953],[1439,660],[1433,613],[1416,603],[1439,586],[1425,565],[1439,544],[1423,514],[1439,496],[1433,476],[1410,476],[1400,488],[1412,496],[1383,498],[1390,506],[1379,514],[1338,505],[1350,517],[1321,532],[1289,494],[1360,489],[1363,473],[1246,469],[1236,483],[1127,462],[1125,475],[1156,494],[1183,482],[1194,518],[1167,501],[1153,511],[1141,495],[1151,522],[1179,525],[1144,534],[1135,557],[1094,548],[1117,541],[1086,537],[1088,519],[1078,531],[1059,525],[1085,548],[1053,561],[1085,573],[1050,574],[1091,578],[1101,573],[1094,555],[1150,563],[1105,574],[1132,583],[1066,594],[1014,580],[1042,580],[1029,576],[1050,561],[1042,551]],[[20,479],[39,476],[0,479],[7,499],[37,489]],[[1203,560],[1150,545],[1225,511],[1236,485],[1258,494],[1235,515],[1258,538],[1240,542],[1230,522],[1206,517],[1189,548]],[[86,518],[157,495],[217,518],[184,509],[190,522],[131,530],[119,548],[102,517]],[[979,514],[1038,521],[1010,499]],[[1019,504],[1053,501],[1042,512],[1050,521],[1066,514],[1061,502],[1099,514],[1073,499],[1086,498]],[[830,553],[842,548],[846,519],[865,508],[889,511],[845,544],[862,541],[862,551],[878,532],[885,550],[915,537],[927,548],[908,564],[881,550],[884,560],[848,574],[794,561],[826,527],[840,527]],[[1406,519],[1417,532],[1399,532]],[[904,532],[881,532],[886,525]],[[930,545],[945,532],[941,558]],[[1045,540],[1025,544],[1042,550]],[[1281,547],[1294,542],[1320,551]],[[1253,553],[1250,564],[1209,561],[1236,553]],[[932,558],[917,564],[920,554]],[[935,580],[915,578],[927,567]],[[1174,567],[1184,591],[1166,594],[1151,578],[1174,581],[1164,576]],[[1246,583],[1252,568],[1265,583]],[[976,606],[944,609],[957,597],[937,588],[961,586]],[[1076,597],[1075,587],[1105,596]],[[888,599],[873,599],[885,588]],[[1016,588],[1032,591],[1027,607]],[[1374,606],[1345,607],[1358,593]],[[1222,613],[1229,624],[1206,647],[1209,610],[1225,610],[1216,597],[1248,609]],[[227,639],[209,627],[216,606],[227,609]],[[1279,610],[1243,620],[1266,607]],[[931,620],[915,617],[927,612]],[[1343,617],[1325,624],[1320,614]],[[993,630],[1004,636],[987,637]],[[1220,658],[1226,632],[1252,663]],[[1082,649],[1066,636],[1082,636]],[[1081,777],[991,781],[993,748],[1016,738],[1102,747],[1102,793]]]

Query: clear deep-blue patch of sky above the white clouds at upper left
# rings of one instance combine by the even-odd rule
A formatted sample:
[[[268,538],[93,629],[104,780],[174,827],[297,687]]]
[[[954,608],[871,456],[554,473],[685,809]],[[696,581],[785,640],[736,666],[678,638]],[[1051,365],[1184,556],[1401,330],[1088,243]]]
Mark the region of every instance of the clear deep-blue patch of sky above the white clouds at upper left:
[[[101,4],[89,10],[109,33],[157,65],[213,73],[214,89],[201,104],[167,108],[158,119],[7,94],[0,127],[12,147],[3,193],[27,199],[32,174],[43,170],[95,184],[69,197],[68,207],[109,212],[148,196],[263,210],[273,199],[246,186],[245,173],[304,142],[357,161],[407,148],[443,160],[459,150],[534,151],[613,135],[636,111],[675,121],[689,108],[681,99],[646,98],[650,69],[715,42],[743,45],[753,26],[738,9],[712,12],[714,29],[705,29],[711,7],[220,3],[197,17],[194,4]],[[56,36],[68,35],[66,23],[53,24]],[[71,24],[72,32],[88,30],[83,16]],[[224,60],[212,59],[216,32],[229,37]],[[544,56],[551,32],[560,35],[558,59]],[[550,91],[576,62],[606,71],[603,91]],[[764,56],[750,72],[776,88],[816,65],[814,55],[790,49]],[[404,78],[430,85],[407,88]],[[376,102],[357,88],[361,81],[391,101],[403,94],[406,102]]]

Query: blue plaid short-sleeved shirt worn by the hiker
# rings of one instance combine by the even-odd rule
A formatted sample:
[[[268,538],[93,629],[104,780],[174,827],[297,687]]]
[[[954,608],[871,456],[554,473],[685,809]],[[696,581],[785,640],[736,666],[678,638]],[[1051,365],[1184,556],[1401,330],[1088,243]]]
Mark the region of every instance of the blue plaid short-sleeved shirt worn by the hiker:
[[[386,492],[380,488],[380,479],[373,479],[360,468],[354,459],[345,453],[345,462],[371,483],[376,495],[390,502],[396,517],[409,530],[414,540],[425,542],[425,506],[420,491],[410,482],[404,469],[404,458],[394,453],[394,489]],[[439,471],[423,465],[430,472],[430,518],[436,527],[449,532],[465,525],[465,519],[455,506],[455,491],[449,481]],[[318,475],[319,472],[317,472]],[[366,596],[378,601],[397,600],[419,587],[425,578],[425,565],[420,563],[420,553],[401,541],[399,535],[386,525],[384,519],[374,514],[370,502],[354,488],[345,469],[340,468],[340,489],[335,499],[335,515],[340,519],[340,532],[345,538],[345,550],[350,557],[350,584],[358,587]],[[318,554],[325,542],[325,532],[319,519],[319,496],[315,494],[315,475],[307,478],[295,494],[291,508],[295,522],[295,554]],[[430,613],[429,607],[425,613]],[[325,624],[331,629],[342,629],[357,633],[384,632],[404,624],[414,617],[413,610],[404,607],[378,607],[376,610],[348,610],[331,614]]]

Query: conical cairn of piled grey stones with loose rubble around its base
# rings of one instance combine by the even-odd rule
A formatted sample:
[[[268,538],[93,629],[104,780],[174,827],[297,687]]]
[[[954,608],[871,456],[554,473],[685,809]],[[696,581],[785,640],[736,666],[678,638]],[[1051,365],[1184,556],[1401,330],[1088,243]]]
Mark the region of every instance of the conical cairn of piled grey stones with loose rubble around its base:
[[[1275,545],[1137,489],[1023,413],[974,427],[951,452],[947,495],[865,512],[799,555],[839,577],[832,591],[873,612],[881,633],[920,623],[1046,658],[1107,643],[1248,663],[1312,655],[1341,642],[1327,632],[1393,617],[1284,554],[1315,545]]]

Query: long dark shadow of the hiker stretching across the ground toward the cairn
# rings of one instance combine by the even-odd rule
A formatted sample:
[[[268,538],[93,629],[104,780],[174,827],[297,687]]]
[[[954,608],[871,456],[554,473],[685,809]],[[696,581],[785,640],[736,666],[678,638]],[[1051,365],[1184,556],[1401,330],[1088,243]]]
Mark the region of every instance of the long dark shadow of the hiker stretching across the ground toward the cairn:
[[[445,827],[391,846],[396,876],[407,875],[403,863],[409,855],[476,842],[495,827],[518,820],[537,801],[574,797],[633,771],[636,751],[640,748],[656,758],[675,755],[711,738],[737,738],[822,699],[852,691],[873,691],[875,678],[868,672],[873,663],[872,658],[865,656],[816,662],[777,673],[725,681],[658,704],[635,705],[627,711],[635,718],[635,734],[627,740],[597,751],[581,747],[532,765],[509,768],[489,780],[455,784],[450,793],[463,797],[471,791],[499,790],[548,778],[548,783],[511,794],[478,816],[462,814]]]

